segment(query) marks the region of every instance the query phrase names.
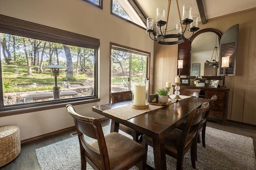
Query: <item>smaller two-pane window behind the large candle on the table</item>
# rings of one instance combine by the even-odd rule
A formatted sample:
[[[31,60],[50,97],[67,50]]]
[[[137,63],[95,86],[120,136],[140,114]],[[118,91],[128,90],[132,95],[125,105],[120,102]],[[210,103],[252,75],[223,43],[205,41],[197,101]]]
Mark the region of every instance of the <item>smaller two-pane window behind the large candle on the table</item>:
[[[111,43],[111,92],[131,89],[130,80],[146,80],[150,53]]]

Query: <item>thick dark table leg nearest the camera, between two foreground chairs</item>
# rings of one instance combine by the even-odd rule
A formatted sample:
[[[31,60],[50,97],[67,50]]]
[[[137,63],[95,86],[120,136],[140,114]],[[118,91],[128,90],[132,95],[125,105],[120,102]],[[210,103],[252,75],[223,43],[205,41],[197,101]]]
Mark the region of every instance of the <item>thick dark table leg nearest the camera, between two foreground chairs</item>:
[[[160,140],[153,138],[153,146],[154,146],[154,160],[155,160],[156,170],[166,170],[164,138]]]

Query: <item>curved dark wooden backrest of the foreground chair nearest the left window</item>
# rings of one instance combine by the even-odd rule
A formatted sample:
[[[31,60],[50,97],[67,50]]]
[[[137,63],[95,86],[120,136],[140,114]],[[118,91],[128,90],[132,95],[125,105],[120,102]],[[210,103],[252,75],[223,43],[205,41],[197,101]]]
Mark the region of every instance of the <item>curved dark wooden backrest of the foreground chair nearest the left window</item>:
[[[96,118],[85,117],[76,113],[74,107],[70,104],[67,106],[69,114],[73,117],[76,131],[78,133],[78,139],[80,144],[81,159],[86,160],[94,169],[110,169],[108,150],[106,147],[105,137],[102,131],[100,121]],[[98,140],[98,149],[91,147],[84,138],[84,135]],[[86,158],[83,158],[84,154]],[[101,166],[90,163],[92,160],[98,160],[101,162]]]

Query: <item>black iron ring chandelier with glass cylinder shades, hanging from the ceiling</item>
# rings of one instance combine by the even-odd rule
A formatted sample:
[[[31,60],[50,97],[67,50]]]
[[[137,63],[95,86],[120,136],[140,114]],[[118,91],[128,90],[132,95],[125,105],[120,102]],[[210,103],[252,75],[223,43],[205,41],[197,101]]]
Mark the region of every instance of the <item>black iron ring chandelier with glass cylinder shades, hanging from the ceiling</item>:
[[[199,29],[198,14],[194,14],[194,15],[191,14],[192,4],[186,4],[183,6],[182,20],[181,20],[180,10],[179,10],[179,6],[178,6],[178,0],[176,0],[180,23],[176,24],[176,34],[166,34],[169,12],[170,12],[170,4],[171,4],[171,0],[168,0],[168,9],[167,9],[167,14],[166,14],[166,17],[167,17],[166,20],[165,20],[164,7],[161,6],[156,9],[156,20],[157,20],[155,23],[156,31],[154,30],[154,25],[153,25],[154,19],[147,18],[147,29],[145,32],[149,33],[150,39],[152,39],[153,41],[157,41],[159,44],[163,44],[163,45],[174,45],[174,44],[183,43],[184,40],[186,39],[184,37],[184,33],[187,29],[187,25],[189,25],[189,24],[190,24],[190,28],[188,29],[188,31],[193,32],[193,35],[194,35],[194,32]],[[185,25],[184,31],[183,31],[182,25]],[[164,28],[164,26],[165,26],[165,28]],[[151,34],[156,35],[156,40],[154,39],[154,37],[153,38],[151,37]]]

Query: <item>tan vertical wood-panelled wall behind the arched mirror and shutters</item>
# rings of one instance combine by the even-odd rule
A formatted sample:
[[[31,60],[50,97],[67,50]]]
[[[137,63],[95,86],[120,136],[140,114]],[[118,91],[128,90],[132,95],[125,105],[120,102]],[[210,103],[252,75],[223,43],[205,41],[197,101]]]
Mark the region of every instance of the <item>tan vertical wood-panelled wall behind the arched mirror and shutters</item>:
[[[200,29],[215,28],[224,33],[239,23],[236,76],[226,76],[225,85],[231,88],[228,101],[228,119],[256,125],[256,8],[208,20]],[[186,36],[191,36],[186,31]],[[174,84],[177,76],[178,45],[154,46],[153,92],[165,87],[166,81]],[[222,84],[222,80],[220,80]],[[171,89],[172,91],[172,89]]]

